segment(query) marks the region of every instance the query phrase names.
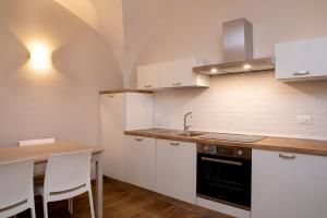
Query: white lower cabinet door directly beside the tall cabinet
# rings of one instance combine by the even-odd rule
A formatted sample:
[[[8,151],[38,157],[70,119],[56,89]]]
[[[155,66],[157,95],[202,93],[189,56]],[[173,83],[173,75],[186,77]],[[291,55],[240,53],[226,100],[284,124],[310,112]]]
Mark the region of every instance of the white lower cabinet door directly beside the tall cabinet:
[[[156,140],[125,136],[125,154],[128,182],[155,191]]]

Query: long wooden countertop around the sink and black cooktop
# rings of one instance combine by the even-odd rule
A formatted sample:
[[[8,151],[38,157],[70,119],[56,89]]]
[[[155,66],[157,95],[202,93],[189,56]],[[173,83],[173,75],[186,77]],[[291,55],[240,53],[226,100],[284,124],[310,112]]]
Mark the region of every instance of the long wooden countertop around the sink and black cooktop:
[[[148,130],[135,130],[125,131],[125,135],[135,135],[144,137],[155,137],[161,140],[203,143],[203,144],[223,144],[227,146],[239,146],[257,149],[288,152],[288,153],[301,153],[307,155],[327,156],[327,141],[317,140],[301,140],[301,138],[288,138],[288,137],[264,137],[255,143],[241,143],[219,140],[206,140],[201,136],[182,136],[181,131],[164,130],[164,129],[148,129]],[[201,134],[211,134],[208,132],[196,132]]]

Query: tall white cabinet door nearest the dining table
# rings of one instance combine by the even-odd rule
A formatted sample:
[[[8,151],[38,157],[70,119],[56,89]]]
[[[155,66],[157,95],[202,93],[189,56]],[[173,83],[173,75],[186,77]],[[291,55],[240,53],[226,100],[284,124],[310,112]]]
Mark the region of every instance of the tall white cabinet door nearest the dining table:
[[[100,140],[104,153],[104,174],[124,181],[124,94],[100,96]]]

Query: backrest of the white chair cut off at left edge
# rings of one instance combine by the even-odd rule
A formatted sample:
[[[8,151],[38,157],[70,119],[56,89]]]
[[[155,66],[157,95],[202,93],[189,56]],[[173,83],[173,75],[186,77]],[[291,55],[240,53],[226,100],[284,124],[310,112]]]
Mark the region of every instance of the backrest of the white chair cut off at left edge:
[[[0,209],[34,197],[34,158],[0,162]]]

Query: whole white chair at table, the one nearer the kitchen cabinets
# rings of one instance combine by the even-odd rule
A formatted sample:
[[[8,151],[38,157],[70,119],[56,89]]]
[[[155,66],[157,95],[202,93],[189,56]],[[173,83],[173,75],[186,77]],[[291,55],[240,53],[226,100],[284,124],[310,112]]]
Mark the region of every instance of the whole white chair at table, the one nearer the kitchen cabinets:
[[[94,205],[90,187],[92,150],[55,154],[49,157],[44,184],[36,192],[44,197],[44,217],[48,218],[48,203],[69,199],[88,192],[90,216]]]

